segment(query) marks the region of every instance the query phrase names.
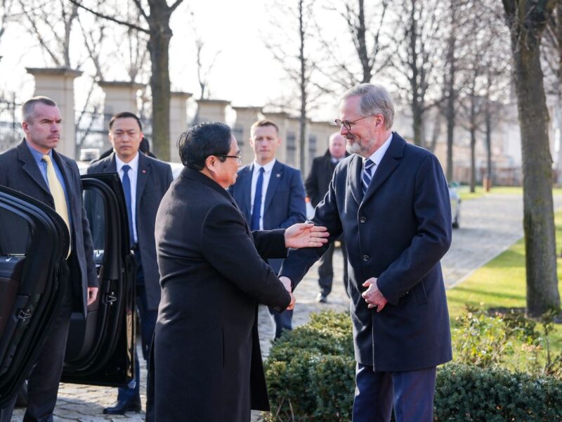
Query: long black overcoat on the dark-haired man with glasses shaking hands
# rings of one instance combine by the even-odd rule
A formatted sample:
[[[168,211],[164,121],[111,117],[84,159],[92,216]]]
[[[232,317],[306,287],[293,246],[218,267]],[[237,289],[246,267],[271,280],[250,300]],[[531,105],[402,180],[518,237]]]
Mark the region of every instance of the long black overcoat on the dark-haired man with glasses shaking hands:
[[[285,257],[284,230],[251,232],[228,191],[185,167],[160,204],[156,242],[155,420],[247,422],[250,404],[268,410],[257,305],[289,305],[262,259]]]

